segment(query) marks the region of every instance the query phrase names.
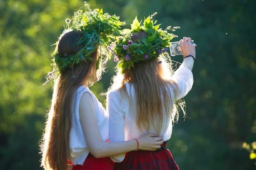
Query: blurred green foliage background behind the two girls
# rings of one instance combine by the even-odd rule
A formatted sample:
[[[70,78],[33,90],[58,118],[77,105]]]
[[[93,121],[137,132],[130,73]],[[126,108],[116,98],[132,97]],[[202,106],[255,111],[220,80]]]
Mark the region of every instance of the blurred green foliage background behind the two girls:
[[[180,26],[180,40],[197,44],[194,85],[185,97],[189,116],[174,125],[168,148],[180,170],[255,170],[243,143],[256,141],[255,0],[88,0],[91,8],[119,15],[130,28],[157,12],[166,26]],[[83,0],[0,0],[0,169],[42,170],[38,142],[52,96],[44,76],[65,19]],[[182,56],[172,58],[181,62]],[[179,64],[178,64],[179,65]],[[91,88],[105,104],[115,73]],[[253,149],[251,152],[255,152]]]

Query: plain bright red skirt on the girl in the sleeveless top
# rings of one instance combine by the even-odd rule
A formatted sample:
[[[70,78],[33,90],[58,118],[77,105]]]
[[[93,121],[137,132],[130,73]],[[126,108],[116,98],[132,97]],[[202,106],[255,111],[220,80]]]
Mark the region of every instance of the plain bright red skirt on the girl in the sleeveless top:
[[[91,153],[85,159],[83,166],[73,165],[72,170],[113,170],[110,157],[95,158]]]

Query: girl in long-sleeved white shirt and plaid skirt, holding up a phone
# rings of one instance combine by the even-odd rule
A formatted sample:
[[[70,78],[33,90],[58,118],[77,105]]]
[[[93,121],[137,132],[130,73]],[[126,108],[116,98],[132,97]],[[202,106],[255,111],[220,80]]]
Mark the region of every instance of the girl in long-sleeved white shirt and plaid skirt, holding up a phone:
[[[110,141],[126,141],[145,133],[164,136],[157,151],[132,151],[110,157],[115,170],[178,170],[166,148],[178,108],[184,110],[184,97],[192,88],[195,44],[184,37],[180,46],[184,61],[173,72],[167,47],[175,35],[154,25],[153,15],[140,26],[137,18],[132,29],[112,45],[117,75],[107,93]],[[175,27],[174,29],[177,29]]]

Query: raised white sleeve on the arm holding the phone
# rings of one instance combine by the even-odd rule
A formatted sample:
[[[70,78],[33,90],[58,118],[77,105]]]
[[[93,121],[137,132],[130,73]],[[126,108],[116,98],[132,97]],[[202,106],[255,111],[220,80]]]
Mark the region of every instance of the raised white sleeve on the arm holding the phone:
[[[176,96],[176,100],[186,96],[191,90],[194,82],[193,73],[189,68],[183,65],[175,71],[171,79],[177,84],[177,88],[180,90],[180,93]]]

